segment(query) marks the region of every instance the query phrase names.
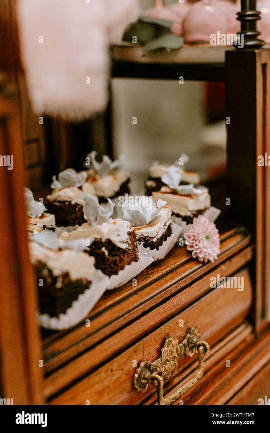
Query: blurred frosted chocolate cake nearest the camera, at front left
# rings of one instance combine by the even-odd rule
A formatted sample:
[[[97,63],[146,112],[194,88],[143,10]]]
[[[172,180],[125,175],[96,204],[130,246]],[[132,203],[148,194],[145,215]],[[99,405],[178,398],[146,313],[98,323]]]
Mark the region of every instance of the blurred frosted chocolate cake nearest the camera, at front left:
[[[89,288],[95,273],[94,258],[85,252],[54,250],[34,241],[29,242],[29,253],[36,268],[40,313],[58,317]]]

